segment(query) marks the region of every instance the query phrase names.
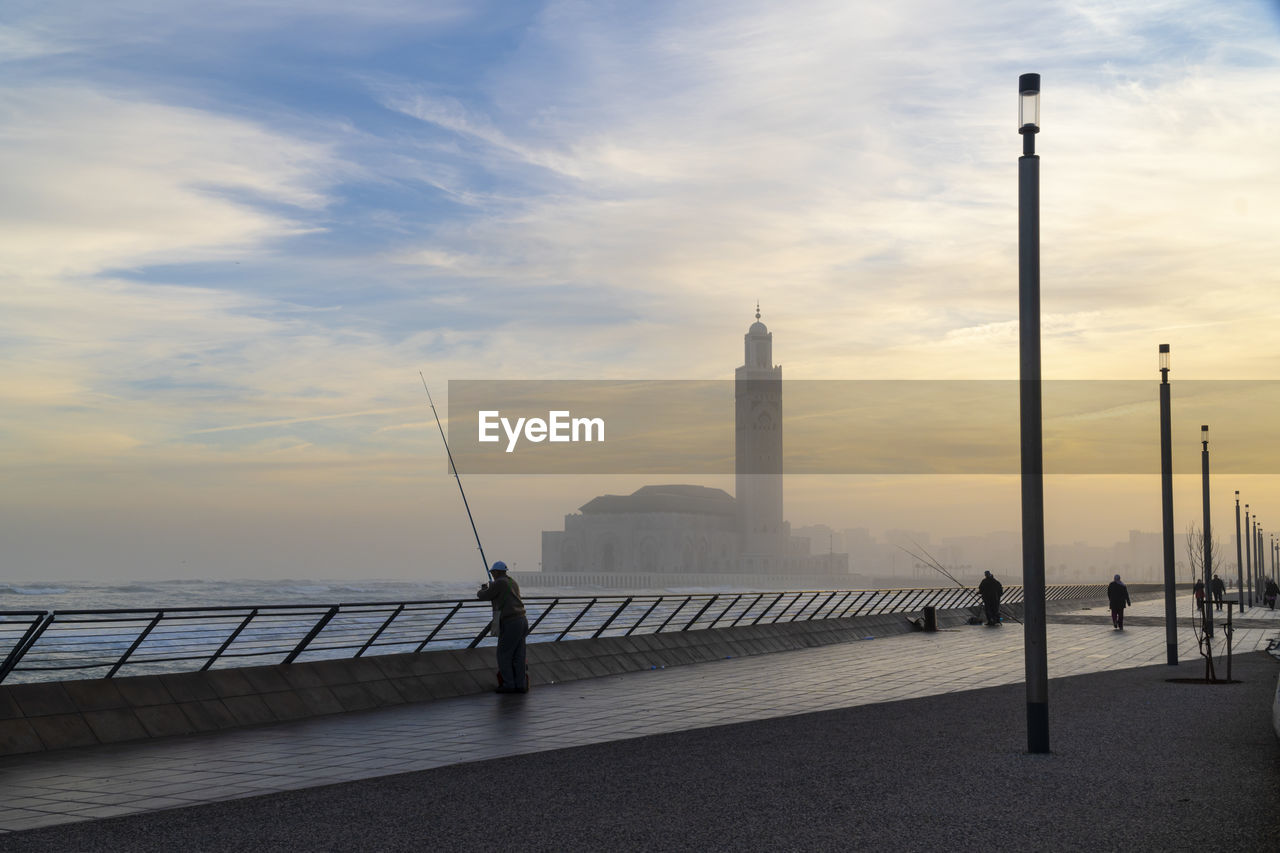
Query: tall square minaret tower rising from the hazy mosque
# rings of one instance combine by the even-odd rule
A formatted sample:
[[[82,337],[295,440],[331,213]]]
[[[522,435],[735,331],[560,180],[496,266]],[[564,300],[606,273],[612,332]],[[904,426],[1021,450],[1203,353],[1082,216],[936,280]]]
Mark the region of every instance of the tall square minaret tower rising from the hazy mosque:
[[[787,544],[782,525],[782,366],[773,364],[773,333],[760,323],[759,302],[755,323],[746,330],[746,357],[733,379],[740,569],[777,573]]]

